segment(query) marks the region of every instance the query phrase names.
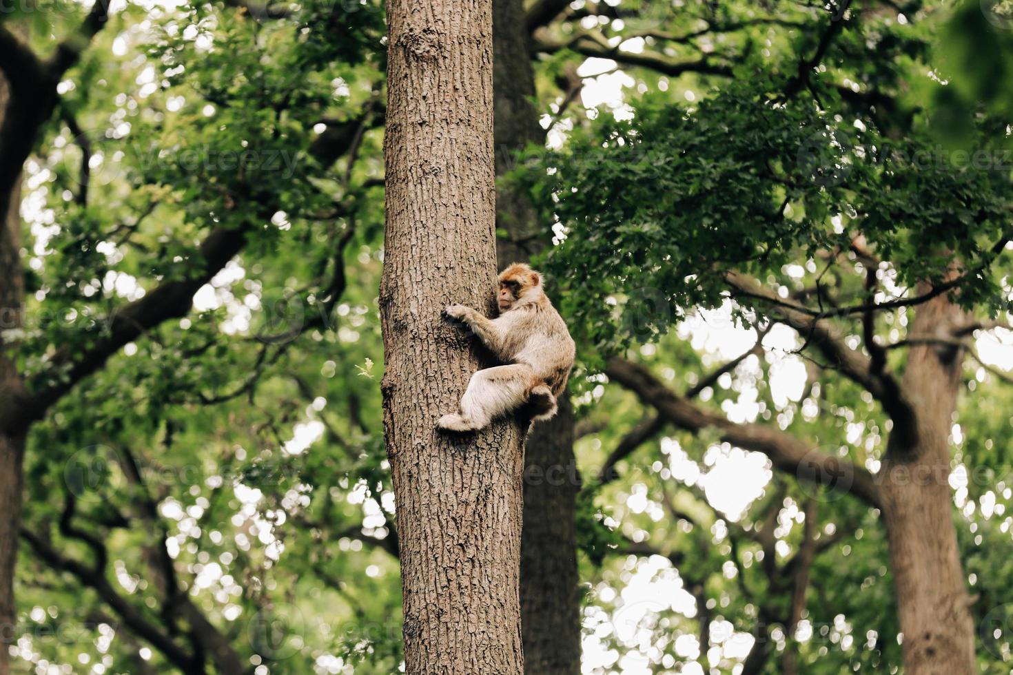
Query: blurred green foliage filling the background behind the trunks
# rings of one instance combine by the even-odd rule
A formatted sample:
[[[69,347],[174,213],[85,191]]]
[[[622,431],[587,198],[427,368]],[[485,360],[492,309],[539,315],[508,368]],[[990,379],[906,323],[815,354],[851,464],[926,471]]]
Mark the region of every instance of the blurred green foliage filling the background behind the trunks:
[[[82,13],[54,2],[5,20],[45,54]],[[34,387],[66,376],[55,356],[93,344],[111,308],[199,266],[210,232],[248,244],[188,318],[128,345],[34,428],[25,672],[187,672],[172,649],[215,640],[235,672],[397,672],[376,301],[384,31],[375,0],[121,3],[61,84],[24,176],[19,358]],[[555,225],[542,262],[579,338],[585,672],[742,672],[754,638],[772,651],[750,672],[898,672],[875,510],[653,420],[601,372],[625,353],[687,392],[750,351],[701,403],[875,467],[887,424],[871,398],[816,376],[802,336],[758,335],[753,305],[718,280],[734,267],[861,303],[858,256],[821,253],[849,251],[861,218],[890,283],[942,279],[959,258],[988,269],[961,302],[1004,318],[1009,262],[993,244],[1009,234],[1010,166],[993,160],[1009,145],[1011,39],[991,0],[576,0],[536,31],[549,150],[519,157],[511,180]],[[882,321],[903,338],[903,308]],[[1008,332],[979,342],[1013,363]],[[1011,663],[1008,379],[968,359],[954,419],[983,673]]]

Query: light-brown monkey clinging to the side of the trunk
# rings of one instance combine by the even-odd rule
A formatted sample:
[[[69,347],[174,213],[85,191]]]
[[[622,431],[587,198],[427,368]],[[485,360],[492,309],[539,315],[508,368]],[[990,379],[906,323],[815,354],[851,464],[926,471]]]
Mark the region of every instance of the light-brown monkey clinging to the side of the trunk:
[[[444,310],[508,364],[475,372],[459,412],[441,417],[440,429],[477,431],[522,407],[532,422],[551,419],[558,410],[556,399],[566,388],[576,347],[545,296],[541,273],[525,263],[509,265],[499,274],[496,302],[499,316],[491,320],[463,305]]]

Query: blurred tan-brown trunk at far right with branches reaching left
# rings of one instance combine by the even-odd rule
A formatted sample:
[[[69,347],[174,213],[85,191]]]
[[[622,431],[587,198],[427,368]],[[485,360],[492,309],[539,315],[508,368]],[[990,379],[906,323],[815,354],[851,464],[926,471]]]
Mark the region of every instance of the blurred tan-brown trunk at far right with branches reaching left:
[[[911,334],[948,335],[962,318],[945,296],[936,298],[918,309]],[[970,599],[948,482],[961,356],[949,345],[911,348],[904,389],[914,407],[916,434],[890,435],[879,477],[907,675],[976,670]]]

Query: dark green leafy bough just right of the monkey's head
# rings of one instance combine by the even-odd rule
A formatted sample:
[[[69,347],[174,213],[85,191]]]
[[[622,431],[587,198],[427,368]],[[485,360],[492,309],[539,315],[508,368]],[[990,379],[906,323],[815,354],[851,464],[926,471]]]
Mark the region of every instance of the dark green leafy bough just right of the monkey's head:
[[[1009,235],[1005,174],[773,87],[754,78],[695,108],[645,97],[632,120],[602,115],[564,150],[527,158],[520,179],[564,227],[550,264],[589,344],[651,341],[688,308],[720,306],[728,271],[765,278],[847,250],[856,231],[904,285],[941,284],[956,266],[962,305],[1009,309],[985,272]]]

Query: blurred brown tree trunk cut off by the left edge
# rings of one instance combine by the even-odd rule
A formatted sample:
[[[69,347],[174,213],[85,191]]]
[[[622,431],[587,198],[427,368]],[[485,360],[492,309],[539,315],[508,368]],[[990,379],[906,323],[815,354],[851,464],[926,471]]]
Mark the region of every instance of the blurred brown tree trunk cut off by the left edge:
[[[7,83],[0,76],[0,122],[9,101]],[[16,640],[14,567],[21,528],[21,486],[24,432],[11,411],[23,395],[23,383],[13,354],[3,343],[3,331],[21,326],[24,283],[21,276],[19,190],[8,200],[0,220],[0,675],[10,673],[8,647]]]

